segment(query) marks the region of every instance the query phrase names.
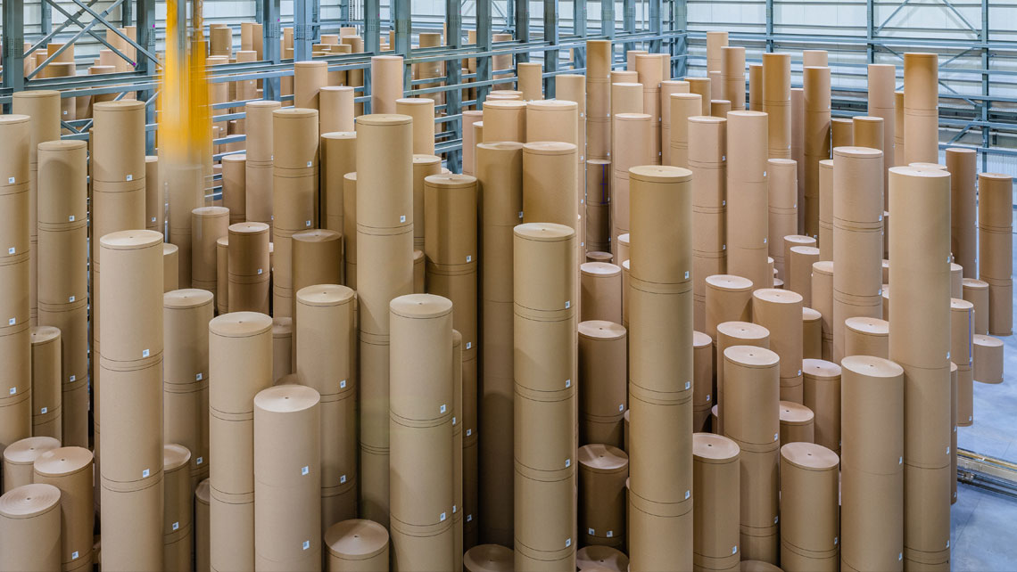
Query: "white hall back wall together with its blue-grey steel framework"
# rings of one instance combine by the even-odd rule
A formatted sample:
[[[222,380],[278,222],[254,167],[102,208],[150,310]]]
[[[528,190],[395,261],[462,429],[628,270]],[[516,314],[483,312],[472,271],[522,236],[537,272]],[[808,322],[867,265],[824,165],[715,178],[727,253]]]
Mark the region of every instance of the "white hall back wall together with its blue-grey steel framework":
[[[27,38],[32,42],[27,54],[45,49],[51,41],[71,44],[81,38],[94,38],[106,47],[107,28],[116,29],[125,24],[137,26],[136,41],[129,41],[137,53],[136,61],[117,51],[134,68],[132,72],[73,77],[42,78],[39,69],[24,74],[4,73],[0,88],[0,104],[8,104],[10,94],[18,89],[60,89],[65,98],[100,93],[136,92],[149,104],[148,129],[156,127],[155,99],[158,93],[159,65],[156,59],[157,40],[163,30],[156,27],[155,0],[114,0],[102,12],[93,8],[96,0],[70,0],[76,10],[67,8],[66,1],[41,0],[41,34]],[[327,56],[330,70],[365,70],[365,83],[370,84],[370,56],[378,53],[380,35],[395,30],[394,53],[406,58],[407,64],[421,62],[457,62],[466,58],[477,59],[476,73],[462,73],[460,65],[446,65],[446,75],[438,78],[441,85],[428,78],[412,81],[407,66],[408,96],[445,92],[445,104],[438,108],[440,115],[436,150],[445,153],[450,164],[458,167],[458,149],[462,142],[461,110],[467,105],[482,105],[491,85],[505,81],[493,79],[496,73],[513,70],[491,69],[491,58],[512,54],[516,61],[541,58],[544,63],[545,88],[548,97],[554,93],[554,76],[559,73],[582,73],[585,70],[585,42],[588,39],[612,39],[616,42],[616,65],[623,65],[624,52],[637,46],[651,52],[667,51],[671,54],[672,76],[705,74],[705,31],[729,29],[730,41],[746,47],[749,61],[759,61],[762,52],[800,52],[802,49],[821,48],[830,51],[834,76],[834,115],[848,117],[864,114],[865,98],[863,78],[868,63],[893,63],[900,61],[905,51],[936,51],[941,55],[941,148],[961,145],[977,149],[981,154],[982,169],[990,164],[1002,165],[1007,171],[1017,170],[1017,71],[1010,67],[1017,63],[1017,41],[995,39],[1006,36],[1005,30],[990,25],[993,6],[989,0],[937,0],[940,9],[953,14],[956,25],[950,29],[919,29],[919,36],[901,35],[901,30],[914,31],[912,26],[896,27],[908,11],[928,9],[928,4],[911,0],[881,2],[864,0],[865,25],[821,26],[775,21],[775,11],[786,5],[800,4],[792,0],[622,0],[620,18],[616,17],[614,2],[599,2],[599,14],[590,14],[586,0],[573,0],[571,17],[562,18],[561,0],[543,0],[543,13],[532,14],[531,3],[507,0],[497,5],[492,0],[469,0],[475,15],[476,44],[467,45],[463,18],[463,0],[445,0],[443,23],[447,45],[439,48],[414,49],[415,33],[434,29],[439,25],[437,16],[417,17],[411,14],[411,0],[390,0],[386,6],[391,17],[382,19],[380,0],[340,0],[340,18],[319,19],[321,0],[295,0],[294,2],[294,52],[296,59],[309,59],[310,46],[321,31],[335,31],[341,25],[356,25],[364,38],[365,52],[361,54]],[[569,4],[566,2],[566,4]],[[730,7],[733,12],[762,13],[758,21],[723,22],[715,17],[699,17],[703,6]],[[845,3],[860,9],[859,2]],[[120,7],[118,21],[111,19],[115,8]],[[256,0],[255,19],[266,22],[264,33],[264,59],[260,62],[215,66],[210,69],[211,81],[236,81],[241,79],[264,80],[263,97],[286,101],[279,96],[279,78],[293,73],[293,60],[282,59],[279,53],[281,37],[280,0]],[[761,11],[762,9],[762,11]],[[64,15],[66,21],[54,26],[52,10]],[[885,15],[887,11],[889,15]],[[690,14],[693,14],[692,19]],[[980,18],[972,16],[980,14]],[[362,18],[352,19],[353,15]],[[2,9],[3,68],[22,69],[26,57],[22,49],[24,35],[24,0],[6,0]],[[741,14],[743,16],[743,14]],[[817,9],[815,17],[822,19]],[[82,19],[91,17],[92,19]],[[424,20],[418,23],[418,20]],[[700,21],[702,20],[702,21]],[[706,21],[709,20],[709,21]],[[501,25],[493,29],[493,21]],[[237,25],[239,23],[237,22]],[[997,25],[1005,25],[1005,22]],[[510,31],[515,40],[493,43],[497,31]],[[922,34],[923,33],[923,34]],[[564,56],[572,53],[573,58]],[[52,61],[56,55],[47,59]],[[792,57],[792,61],[794,58]],[[800,60],[793,64],[794,79],[800,84]],[[977,63],[978,65],[974,65]],[[1008,65],[1010,64],[1010,65]],[[45,63],[44,63],[45,65]],[[41,68],[40,68],[41,69]],[[467,83],[469,82],[469,83]],[[463,101],[466,88],[476,88],[477,101]],[[358,102],[367,104],[364,88],[358,88]],[[122,97],[122,96],[120,96]],[[215,121],[240,119],[242,113],[226,113],[237,103],[218,104]],[[66,137],[85,138],[91,120],[76,120],[65,124],[70,131]],[[217,139],[217,143],[242,140],[242,135]],[[149,137],[149,145],[154,138]],[[152,148],[149,148],[152,151]],[[1003,170],[997,168],[996,170]]]

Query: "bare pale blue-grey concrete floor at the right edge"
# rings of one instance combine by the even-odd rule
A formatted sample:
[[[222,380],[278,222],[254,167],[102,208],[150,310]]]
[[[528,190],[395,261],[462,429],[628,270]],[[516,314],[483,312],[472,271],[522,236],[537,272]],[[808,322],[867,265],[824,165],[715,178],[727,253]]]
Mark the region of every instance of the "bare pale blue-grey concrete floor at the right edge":
[[[974,384],[974,424],[958,429],[957,445],[1017,461],[1017,335],[1001,339],[1005,344],[1003,383]],[[1017,570],[1015,523],[1017,499],[959,484],[951,511],[953,570]]]

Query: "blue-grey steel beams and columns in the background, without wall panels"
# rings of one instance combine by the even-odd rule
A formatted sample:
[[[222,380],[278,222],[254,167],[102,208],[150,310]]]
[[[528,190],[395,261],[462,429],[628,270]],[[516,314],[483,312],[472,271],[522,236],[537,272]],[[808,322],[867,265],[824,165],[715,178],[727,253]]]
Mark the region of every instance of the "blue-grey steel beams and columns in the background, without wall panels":
[[[351,5],[352,0],[340,0],[340,20],[322,21],[318,19],[320,0],[295,0],[294,2],[294,42],[297,60],[310,57],[310,45],[317,33],[322,28],[336,28],[339,25],[357,25],[364,37],[365,53],[322,58],[328,62],[331,70],[362,68],[365,70],[365,83],[370,84],[370,55],[378,53],[380,44],[381,5],[380,0],[360,0],[362,2],[363,18],[351,20],[350,16],[358,11],[360,6]],[[569,0],[565,0],[566,2]],[[1017,57],[1017,43],[993,40],[989,26],[989,0],[980,0],[981,18],[974,25],[961,16],[951,0],[939,0],[948,10],[955,13],[967,28],[977,36],[976,41],[958,41],[937,38],[907,39],[887,38],[880,33],[899,12],[908,9],[911,0],[903,0],[895,4],[896,9],[883,21],[875,20],[877,0],[866,0],[868,24],[864,37],[829,36],[806,34],[777,34],[774,31],[773,8],[774,0],[765,0],[766,30],[764,34],[731,34],[731,42],[760,46],[766,51],[788,51],[821,44],[836,44],[838,47],[849,47],[864,50],[870,62],[876,61],[877,53],[900,55],[906,50],[936,50],[946,53],[941,59],[941,68],[949,69],[951,74],[970,75],[980,78],[980,94],[960,94],[949,84],[941,82],[943,89],[941,127],[951,130],[955,136],[951,141],[941,143],[941,147],[956,144],[962,137],[970,139],[970,133],[980,134],[979,144],[963,143],[976,148],[982,156],[983,165],[989,154],[1017,156],[1017,149],[994,144],[997,135],[1017,135],[1017,114],[1007,109],[1017,104],[1017,98],[997,97],[990,93],[992,77],[1015,76],[1017,72],[994,69],[991,60],[994,56]],[[9,104],[10,94],[19,89],[61,89],[64,97],[81,97],[97,93],[124,93],[136,91],[149,104],[148,130],[149,152],[154,142],[151,132],[155,130],[154,103],[158,86],[158,62],[153,57],[156,46],[155,0],[115,0],[114,4],[103,12],[97,12],[92,6],[97,0],[71,0],[77,10],[68,11],[65,6],[54,0],[42,0],[42,35],[33,38],[28,53],[37,49],[45,49],[51,40],[67,44],[85,35],[95,38],[110,47],[105,40],[106,28],[116,28],[128,22],[137,25],[137,39],[129,41],[137,52],[135,71],[60,78],[41,78],[38,70],[28,77],[19,73],[4,73],[0,87],[0,104]],[[475,0],[477,43],[465,45],[461,0],[445,0],[445,25],[451,39],[447,46],[438,48],[412,48],[413,25],[410,19],[411,0],[392,0],[390,13],[395,29],[396,53],[406,58],[407,64],[426,61],[458,62],[465,58],[477,59],[476,73],[463,74],[459,65],[446,65],[446,75],[443,85],[437,87],[421,87],[423,83],[431,83],[434,79],[413,81],[410,79],[410,66],[407,66],[407,96],[421,96],[446,91],[445,104],[438,109],[442,129],[438,133],[436,150],[445,153],[451,168],[458,170],[460,163],[459,149],[462,143],[461,111],[465,105],[483,105],[483,101],[495,83],[492,76],[498,72],[512,70],[491,69],[491,57],[511,53],[516,61],[528,61],[531,54],[543,55],[545,89],[550,96],[554,93],[554,76],[564,72],[582,72],[585,70],[585,41],[587,39],[612,39],[621,50],[618,51],[616,62],[624,61],[624,52],[635,49],[637,44],[646,46],[653,52],[667,51],[671,55],[672,75],[682,76],[692,64],[701,64],[703,58],[689,54],[690,44],[702,46],[705,43],[703,31],[689,31],[687,0],[646,0],[640,2],[642,10],[637,10],[636,0],[620,0],[621,27],[615,29],[615,3],[600,2],[600,29],[591,35],[587,27],[586,0],[572,0],[573,17],[562,20],[560,17],[561,0],[543,0],[543,17],[535,20],[530,13],[530,2],[507,0],[504,14],[505,29],[515,35],[512,42],[492,43],[492,0]],[[120,21],[111,21],[110,14],[116,6],[122,6]],[[280,30],[280,0],[256,0],[256,19],[264,22],[264,59],[260,62],[228,64],[216,66],[210,70],[212,81],[236,81],[238,79],[263,79],[265,99],[286,101],[280,97],[279,78],[293,73],[292,60],[284,60],[279,53]],[[64,14],[67,21],[57,27],[52,25],[51,9]],[[500,11],[500,10],[498,10]],[[5,70],[22,69],[22,60],[26,56],[23,50],[24,19],[23,0],[6,0],[2,9],[2,40],[3,68]],[[646,17],[646,25],[640,26],[638,13]],[[82,22],[81,17],[87,14],[89,21]],[[666,15],[666,17],[665,17]],[[387,23],[387,22],[386,22]],[[83,25],[82,25],[83,24]],[[536,27],[534,27],[536,24]],[[431,24],[433,26],[433,24]],[[70,26],[76,26],[77,31],[65,31]],[[418,25],[418,31],[426,24]],[[387,29],[385,30],[387,31]],[[111,47],[112,48],[112,47]],[[561,58],[563,53],[572,51],[575,55],[572,61]],[[115,51],[116,52],[116,51]],[[960,57],[971,54],[980,56],[979,68],[950,68],[950,64]],[[125,59],[126,56],[121,55]],[[56,56],[47,59],[51,61]],[[128,59],[128,61],[130,61]],[[45,65],[45,63],[44,63]],[[836,64],[836,72],[841,74],[864,74],[862,65]],[[471,80],[466,83],[467,80]],[[499,79],[498,82],[503,81]],[[462,89],[477,88],[476,101],[462,101]],[[73,90],[72,90],[73,89]],[[841,116],[856,115],[864,112],[864,96],[862,89],[837,89],[834,94],[834,114]],[[358,102],[364,102],[369,109],[369,98],[364,88],[358,88]],[[996,105],[997,107],[994,107]],[[236,107],[236,103],[219,104],[219,111]],[[216,116],[217,121],[242,118],[243,114],[222,113]],[[71,133],[68,138],[86,138],[89,120],[71,121],[65,124]],[[243,135],[233,135],[217,139],[217,143],[227,143],[242,140]]]

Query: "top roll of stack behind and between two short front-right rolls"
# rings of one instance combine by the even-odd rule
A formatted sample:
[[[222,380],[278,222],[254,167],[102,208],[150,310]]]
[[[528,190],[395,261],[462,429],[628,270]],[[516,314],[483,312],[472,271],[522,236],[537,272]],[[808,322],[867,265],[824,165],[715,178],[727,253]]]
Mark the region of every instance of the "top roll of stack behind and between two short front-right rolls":
[[[724,436],[753,445],[777,443],[780,358],[764,347],[746,345],[729,346],[722,355]]]

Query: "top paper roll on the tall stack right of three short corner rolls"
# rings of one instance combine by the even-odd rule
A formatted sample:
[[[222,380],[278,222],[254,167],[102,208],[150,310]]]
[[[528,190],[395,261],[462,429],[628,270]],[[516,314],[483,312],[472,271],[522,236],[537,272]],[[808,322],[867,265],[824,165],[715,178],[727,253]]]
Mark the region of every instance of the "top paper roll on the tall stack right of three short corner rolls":
[[[121,231],[100,239],[103,358],[111,367],[136,367],[163,353],[163,235]]]

